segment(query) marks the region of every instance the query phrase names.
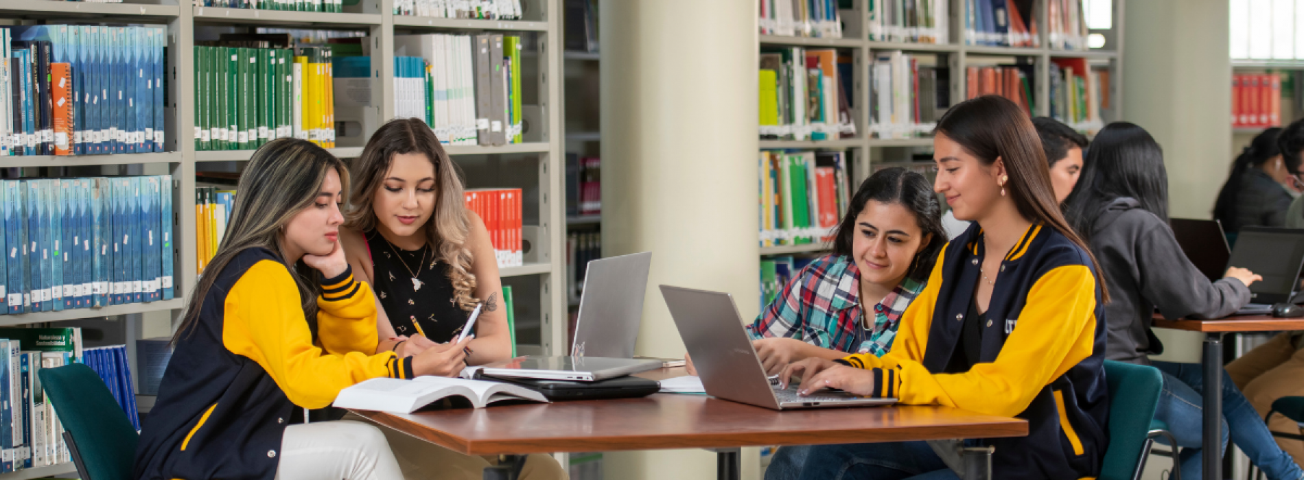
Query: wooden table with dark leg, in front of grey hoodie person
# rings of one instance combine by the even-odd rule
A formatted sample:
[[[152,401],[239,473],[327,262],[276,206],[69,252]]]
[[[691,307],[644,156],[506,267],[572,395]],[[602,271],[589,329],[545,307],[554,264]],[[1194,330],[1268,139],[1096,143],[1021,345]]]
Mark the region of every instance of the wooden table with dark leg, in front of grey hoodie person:
[[[1200,331],[1205,334],[1204,352],[1204,479],[1222,479],[1222,338],[1227,333],[1304,330],[1304,318],[1271,316],[1235,316],[1219,320],[1166,320],[1154,316],[1159,329]]]

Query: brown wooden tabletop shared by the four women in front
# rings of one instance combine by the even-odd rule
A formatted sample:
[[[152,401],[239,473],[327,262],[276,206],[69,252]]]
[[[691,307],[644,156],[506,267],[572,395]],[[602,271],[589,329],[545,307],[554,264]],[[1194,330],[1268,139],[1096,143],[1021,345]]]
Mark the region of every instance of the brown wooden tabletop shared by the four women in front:
[[[672,369],[679,370],[682,369]],[[647,377],[673,377],[649,372]],[[704,395],[655,394],[489,408],[385,413],[355,411],[381,425],[467,455],[554,451],[735,449],[768,445],[898,442],[1028,434],[1028,423],[949,407],[772,411]],[[721,462],[737,462],[721,454]],[[730,470],[721,464],[719,473]],[[737,473],[734,471],[734,473]],[[488,473],[486,473],[488,477]]]

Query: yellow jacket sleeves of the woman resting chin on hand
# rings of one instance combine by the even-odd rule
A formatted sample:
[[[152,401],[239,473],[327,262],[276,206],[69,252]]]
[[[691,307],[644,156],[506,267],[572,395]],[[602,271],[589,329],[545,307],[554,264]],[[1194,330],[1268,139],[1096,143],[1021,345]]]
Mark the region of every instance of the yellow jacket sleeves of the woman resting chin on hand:
[[[370,291],[359,290],[339,301],[340,305],[331,305],[334,313],[322,312],[318,318],[333,314],[344,317],[340,312],[357,314],[370,308],[374,338],[376,312]],[[299,303],[299,288],[280,262],[263,260],[249,267],[227,293],[224,307],[223,346],[258,363],[286,397],[300,407],[330,406],[342,389],[364,380],[412,377],[411,359],[398,359],[393,352],[325,355],[312,342]]]

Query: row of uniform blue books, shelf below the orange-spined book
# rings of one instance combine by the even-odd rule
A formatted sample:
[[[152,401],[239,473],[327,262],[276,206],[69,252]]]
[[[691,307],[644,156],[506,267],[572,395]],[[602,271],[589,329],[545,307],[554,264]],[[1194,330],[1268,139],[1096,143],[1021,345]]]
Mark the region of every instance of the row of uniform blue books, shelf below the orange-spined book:
[[[4,313],[170,300],[172,176],[0,180]]]

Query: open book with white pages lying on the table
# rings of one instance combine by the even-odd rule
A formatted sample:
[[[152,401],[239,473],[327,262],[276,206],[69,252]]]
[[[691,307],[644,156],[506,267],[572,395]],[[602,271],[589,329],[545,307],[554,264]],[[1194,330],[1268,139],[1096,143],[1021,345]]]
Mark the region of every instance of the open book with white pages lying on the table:
[[[446,397],[464,397],[476,408],[498,400],[548,402],[542,394],[510,383],[479,380],[416,377],[413,380],[372,378],[349,386],[335,397],[335,407],[411,413]]]

